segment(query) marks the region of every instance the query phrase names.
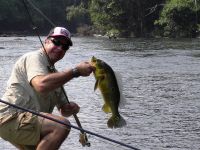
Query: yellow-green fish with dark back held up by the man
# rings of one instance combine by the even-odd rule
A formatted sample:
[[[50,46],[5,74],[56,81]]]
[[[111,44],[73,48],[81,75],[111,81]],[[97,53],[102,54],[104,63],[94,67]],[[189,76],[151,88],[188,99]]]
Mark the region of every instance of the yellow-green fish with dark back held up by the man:
[[[104,99],[102,109],[105,113],[112,113],[112,116],[107,122],[108,127],[117,128],[124,126],[126,121],[118,111],[120,90],[114,71],[107,63],[94,56],[91,59],[91,64],[96,68],[93,71],[96,79],[94,90],[99,88]]]

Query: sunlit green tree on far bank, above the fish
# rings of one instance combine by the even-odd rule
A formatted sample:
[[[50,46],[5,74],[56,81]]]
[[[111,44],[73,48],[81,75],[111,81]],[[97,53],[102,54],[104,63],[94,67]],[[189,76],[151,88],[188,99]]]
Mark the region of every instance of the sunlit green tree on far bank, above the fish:
[[[89,11],[92,23],[102,33],[121,34],[125,11],[121,0],[91,0]]]

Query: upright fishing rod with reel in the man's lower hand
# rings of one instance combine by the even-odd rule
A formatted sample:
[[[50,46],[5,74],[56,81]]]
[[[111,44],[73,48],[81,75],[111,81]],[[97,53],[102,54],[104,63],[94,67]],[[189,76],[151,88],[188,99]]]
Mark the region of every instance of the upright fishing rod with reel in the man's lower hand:
[[[28,0],[27,0],[27,1],[28,1]],[[29,1],[29,2],[30,2],[30,1]],[[42,43],[42,40],[41,40],[40,35],[39,35],[39,32],[38,32],[38,30],[37,30],[37,27],[36,27],[35,24],[34,24],[34,21],[33,21],[32,17],[31,17],[31,13],[30,13],[30,11],[29,11],[29,9],[28,9],[28,6],[27,6],[25,0],[23,0],[23,4],[24,4],[24,7],[25,7],[25,9],[26,9],[26,11],[27,11],[27,13],[28,13],[28,16],[29,16],[29,19],[30,19],[30,21],[31,21],[31,24],[32,24],[32,26],[33,26],[33,30],[35,31],[36,35],[38,36],[38,38],[39,38],[39,40],[40,40],[40,43],[41,43],[41,45],[42,45],[42,47],[43,47],[43,49],[44,49],[44,51],[45,51],[46,58],[47,58],[48,63],[49,63],[49,65],[50,65],[50,66],[47,66],[47,68],[49,69],[50,72],[56,72],[55,66],[52,64],[52,62],[51,62],[51,60],[50,60],[50,58],[49,58],[49,56],[48,56],[48,54],[47,54],[47,52],[46,52],[46,50],[45,50],[44,44]],[[34,6],[32,3],[31,3],[31,5]],[[34,7],[35,7],[35,6],[34,6]],[[37,10],[38,10],[38,9],[37,9]],[[41,12],[41,11],[40,11],[40,12]],[[49,20],[49,19],[48,19],[48,20]],[[68,100],[68,97],[67,97],[67,93],[66,93],[66,91],[65,91],[65,89],[64,89],[63,86],[61,86],[61,91],[63,92],[63,94],[64,94],[64,96],[65,96],[65,98],[66,98],[66,100],[67,100],[67,103],[70,103],[69,100]],[[73,114],[73,117],[74,117],[74,119],[75,119],[77,125],[79,126],[79,128],[82,128],[82,125],[81,125],[81,123],[80,123],[80,121],[79,121],[78,116],[77,116],[76,114]],[[90,142],[88,141],[88,138],[87,138],[86,133],[85,133],[83,130],[80,130],[80,131],[81,131],[81,133],[80,133],[80,137],[79,137],[79,142],[82,144],[82,146],[88,146],[88,147],[89,147],[89,146],[90,146]]]

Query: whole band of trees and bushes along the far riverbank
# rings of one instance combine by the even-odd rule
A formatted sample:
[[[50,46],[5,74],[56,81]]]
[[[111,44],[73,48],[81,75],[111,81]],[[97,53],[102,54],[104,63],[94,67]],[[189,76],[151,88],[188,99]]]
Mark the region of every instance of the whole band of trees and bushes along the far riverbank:
[[[26,0],[25,0],[26,1]],[[81,35],[197,37],[200,0],[31,0],[52,22]],[[27,3],[29,4],[29,3]],[[51,24],[32,6],[40,33]],[[0,1],[0,33],[32,34],[23,0]]]

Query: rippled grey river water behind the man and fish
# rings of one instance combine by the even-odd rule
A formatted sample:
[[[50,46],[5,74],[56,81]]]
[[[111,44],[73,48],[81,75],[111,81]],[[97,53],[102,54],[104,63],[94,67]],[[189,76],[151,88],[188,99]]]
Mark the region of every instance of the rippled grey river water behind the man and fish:
[[[72,40],[74,46],[56,68],[73,67],[96,56],[121,74],[126,101],[120,113],[127,125],[109,129],[110,114],[101,110],[103,100],[99,91],[94,92],[93,75],[71,80],[65,89],[69,100],[81,107],[78,117],[84,129],[141,150],[200,149],[200,39]],[[37,37],[0,38],[0,95],[17,58],[38,48]],[[82,147],[78,136],[79,131],[72,129],[60,149],[128,149],[93,135],[88,135],[91,147]],[[15,148],[0,139],[0,149]]]

